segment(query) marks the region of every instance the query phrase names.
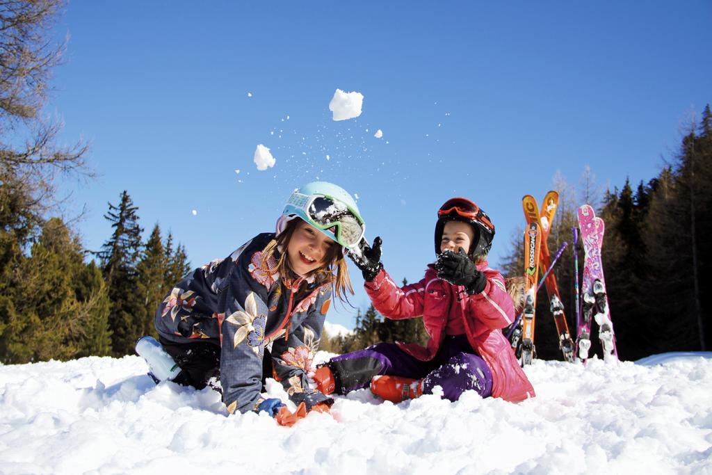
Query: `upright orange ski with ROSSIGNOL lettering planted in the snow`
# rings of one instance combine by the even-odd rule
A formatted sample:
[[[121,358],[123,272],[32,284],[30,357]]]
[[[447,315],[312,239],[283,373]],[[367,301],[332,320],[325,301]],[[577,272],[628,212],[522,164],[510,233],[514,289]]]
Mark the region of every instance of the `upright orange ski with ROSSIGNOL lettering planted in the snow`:
[[[536,357],[534,348],[534,317],[536,310],[537,275],[542,232],[538,223],[530,223],[524,231],[524,310],[521,342],[517,357],[522,366],[530,365]]]

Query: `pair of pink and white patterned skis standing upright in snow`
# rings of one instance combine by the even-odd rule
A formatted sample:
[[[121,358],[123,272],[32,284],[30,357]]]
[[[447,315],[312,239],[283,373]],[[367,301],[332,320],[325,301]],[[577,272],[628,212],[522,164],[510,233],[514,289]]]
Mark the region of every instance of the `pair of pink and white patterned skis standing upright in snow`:
[[[595,215],[593,208],[588,204],[578,209],[578,221],[585,257],[581,282],[581,318],[576,338],[577,356],[584,362],[588,359],[591,348],[591,324],[592,320],[595,320],[599,327],[598,335],[603,348],[603,359],[617,360],[618,351],[601,261],[604,222]]]

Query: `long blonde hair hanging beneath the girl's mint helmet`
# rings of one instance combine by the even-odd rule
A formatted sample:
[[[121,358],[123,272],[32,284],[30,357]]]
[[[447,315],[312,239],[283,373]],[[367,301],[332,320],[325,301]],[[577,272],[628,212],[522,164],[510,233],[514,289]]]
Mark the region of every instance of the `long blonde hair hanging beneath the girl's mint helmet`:
[[[300,224],[302,219],[292,219],[290,220],[284,230],[275,239],[268,242],[265,249],[262,250],[262,265],[267,266],[269,258],[274,256],[278,249],[283,249],[282,252],[278,253],[277,263],[274,268],[265,268],[269,273],[278,272],[280,276],[295,276],[295,272],[289,266],[289,259],[287,259],[287,246],[289,245],[289,240],[294,234],[295,229]],[[305,222],[305,221],[304,221]],[[351,278],[349,276],[349,268],[346,264],[345,255],[342,251],[342,247],[338,243],[334,243],[329,251],[327,251],[324,257],[325,265],[312,271],[311,275],[314,276],[315,281],[318,285],[322,286],[325,283],[332,283],[332,290],[335,296],[339,298],[340,301],[346,301],[346,293],[350,292],[352,295],[354,289],[351,286]]]

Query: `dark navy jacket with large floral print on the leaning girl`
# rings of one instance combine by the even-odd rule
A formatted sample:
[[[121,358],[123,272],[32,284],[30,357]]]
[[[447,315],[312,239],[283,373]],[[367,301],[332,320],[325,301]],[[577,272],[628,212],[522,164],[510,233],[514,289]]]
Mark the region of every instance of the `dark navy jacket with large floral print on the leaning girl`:
[[[290,282],[266,269],[262,250],[274,239],[263,233],[227,259],[195,269],[172,289],[159,306],[155,326],[175,343],[196,339],[219,345],[220,382],[228,411],[248,412],[262,402],[262,359],[271,348],[276,380],[290,399],[307,409],[333,400],[311,390],[308,375],[319,345],[331,284],[318,286],[299,278]],[[299,301],[299,286],[307,286]]]

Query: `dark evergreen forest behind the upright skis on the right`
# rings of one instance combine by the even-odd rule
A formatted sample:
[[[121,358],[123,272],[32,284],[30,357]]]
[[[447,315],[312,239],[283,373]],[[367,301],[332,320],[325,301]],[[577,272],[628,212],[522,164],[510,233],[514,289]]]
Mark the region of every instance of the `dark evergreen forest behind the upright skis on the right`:
[[[575,338],[575,257],[579,282],[584,254],[579,241],[572,251],[572,227],[577,207],[592,204],[605,222],[602,261],[616,333],[619,357],[640,357],[669,351],[707,350],[712,344],[712,308],[703,296],[712,291],[712,113],[704,108],[701,120],[682,138],[675,156],[656,177],[622,189],[608,189],[600,199],[590,170],[582,186],[555,180],[560,194],[548,238],[555,253],[569,246],[557,262],[557,278],[567,323]],[[538,199],[540,199],[538,197]],[[524,224],[524,220],[522,221]],[[522,275],[521,233],[513,236],[503,263],[506,276]],[[541,271],[540,271],[541,275]],[[538,293],[535,346],[538,357],[562,359],[545,288]],[[601,355],[597,325],[592,325],[592,350]]]

